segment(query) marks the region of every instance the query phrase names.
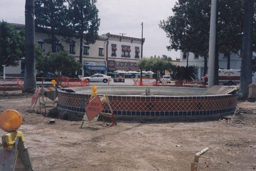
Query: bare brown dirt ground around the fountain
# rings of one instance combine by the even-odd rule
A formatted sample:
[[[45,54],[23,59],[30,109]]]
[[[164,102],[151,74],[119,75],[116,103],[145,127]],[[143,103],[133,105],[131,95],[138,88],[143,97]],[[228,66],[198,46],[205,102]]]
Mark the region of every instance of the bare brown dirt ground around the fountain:
[[[255,170],[256,103],[240,101],[233,116],[214,119],[119,119],[102,121],[55,119],[27,112],[32,94],[0,92],[0,112],[22,114],[34,170],[190,170],[197,152],[198,170]],[[35,108],[37,111],[39,107]],[[5,134],[0,131],[0,135]]]

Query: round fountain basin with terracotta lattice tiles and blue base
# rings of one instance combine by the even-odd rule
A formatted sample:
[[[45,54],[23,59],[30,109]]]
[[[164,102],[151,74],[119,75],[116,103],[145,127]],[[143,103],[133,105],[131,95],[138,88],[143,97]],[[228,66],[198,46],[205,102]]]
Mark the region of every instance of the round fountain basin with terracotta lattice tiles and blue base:
[[[237,107],[237,94],[202,95],[206,89],[150,87],[154,95],[135,95],[143,94],[145,88],[102,86],[98,87],[97,92],[99,96],[103,96],[105,93],[108,94],[111,107],[117,116],[220,115],[232,114],[236,111]],[[72,89],[76,92],[58,90],[57,106],[63,110],[84,113],[85,106],[87,106],[91,97],[91,87],[76,87]],[[123,95],[115,95],[113,93],[122,93]],[[103,112],[111,113],[108,105],[103,104],[103,108]]]

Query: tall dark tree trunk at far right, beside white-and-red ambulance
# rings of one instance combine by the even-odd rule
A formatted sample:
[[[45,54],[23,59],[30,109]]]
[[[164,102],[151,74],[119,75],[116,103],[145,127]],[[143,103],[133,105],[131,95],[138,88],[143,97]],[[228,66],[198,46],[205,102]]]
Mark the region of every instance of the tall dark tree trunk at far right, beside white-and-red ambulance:
[[[252,74],[253,0],[244,0],[244,28],[239,95],[247,97]]]

